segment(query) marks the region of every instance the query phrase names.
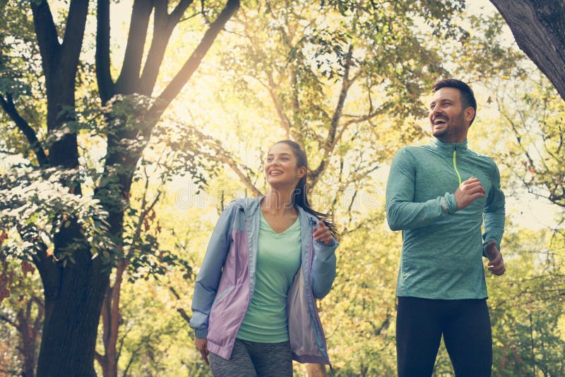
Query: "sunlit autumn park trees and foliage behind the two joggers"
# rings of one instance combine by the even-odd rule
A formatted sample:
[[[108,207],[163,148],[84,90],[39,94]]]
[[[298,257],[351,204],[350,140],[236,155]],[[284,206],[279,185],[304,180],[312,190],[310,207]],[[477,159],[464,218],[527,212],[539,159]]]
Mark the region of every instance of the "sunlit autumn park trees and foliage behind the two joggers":
[[[563,43],[562,1],[509,3]],[[222,208],[266,190],[266,152],[286,138],[342,234],[318,302],[333,370],[295,374],[394,376],[401,235],[386,176],[399,148],[429,140],[431,84],[446,77],[475,90],[470,148],[494,158],[507,196],[506,274],[487,273],[493,375],[565,375],[565,102],[491,2],[0,12],[1,376],[210,376],[188,325],[194,279]],[[535,46],[545,61],[563,54],[555,42]],[[442,346],[434,376],[452,375]]]

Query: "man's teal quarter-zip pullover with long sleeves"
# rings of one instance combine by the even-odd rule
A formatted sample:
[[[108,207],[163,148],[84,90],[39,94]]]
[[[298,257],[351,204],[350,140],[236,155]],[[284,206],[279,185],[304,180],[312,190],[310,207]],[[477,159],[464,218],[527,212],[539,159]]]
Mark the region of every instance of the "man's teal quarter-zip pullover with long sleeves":
[[[472,176],[484,198],[458,210],[453,193]],[[403,231],[397,296],[487,297],[483,247],[496,241],[500,248],[504,232],[504,193],[491,158],[469,150],[467,140],[402,148],[388,176],[386,215],[391,229]]]

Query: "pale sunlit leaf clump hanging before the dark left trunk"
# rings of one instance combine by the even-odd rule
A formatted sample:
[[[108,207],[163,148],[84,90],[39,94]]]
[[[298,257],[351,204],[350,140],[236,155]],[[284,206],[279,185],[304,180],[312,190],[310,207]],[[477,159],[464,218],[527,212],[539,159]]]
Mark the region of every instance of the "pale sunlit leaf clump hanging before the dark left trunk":
[[[109,260],[107,251],[115,246],[107,237],[107,212],[95,198],[73,194],[73,188],[83,179],[81,171],[37,169],[28,161],[4,156],[8,157],[5,160],[8,166],[0,176],[1,226],[5,231],[19,233],[23,239],[8,239],[0,249],[4,258],[30,259],[40,251],[38,240],[47,246],[47,253],[49,250],[53,253],[52,234],[76,221],[82,228],[84,239],[76,239],[65,249],[58,250],[54,258],[64,264],[68,259],[73,261],[73,251],[84,247],[86,241],[93,256],[100,252]]]

